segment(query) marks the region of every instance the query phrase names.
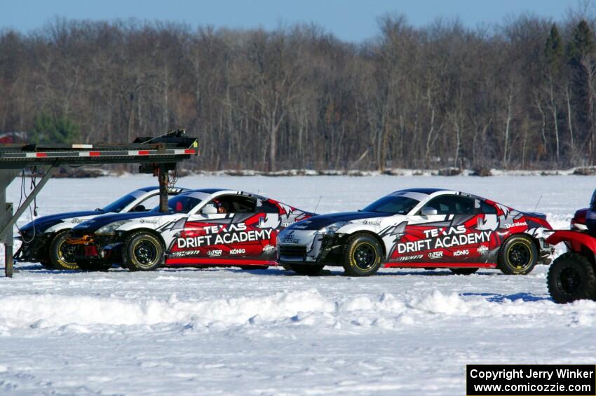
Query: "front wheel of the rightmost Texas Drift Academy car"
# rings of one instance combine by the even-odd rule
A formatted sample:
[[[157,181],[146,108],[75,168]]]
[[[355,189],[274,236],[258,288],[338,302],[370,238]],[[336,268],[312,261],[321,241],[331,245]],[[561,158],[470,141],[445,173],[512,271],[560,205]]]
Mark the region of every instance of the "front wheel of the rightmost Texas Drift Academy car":
[[[344,245],[341,260],[346,275],[374,275],[381,267],[383,249],[372,235],[355,234],[348,238]]]

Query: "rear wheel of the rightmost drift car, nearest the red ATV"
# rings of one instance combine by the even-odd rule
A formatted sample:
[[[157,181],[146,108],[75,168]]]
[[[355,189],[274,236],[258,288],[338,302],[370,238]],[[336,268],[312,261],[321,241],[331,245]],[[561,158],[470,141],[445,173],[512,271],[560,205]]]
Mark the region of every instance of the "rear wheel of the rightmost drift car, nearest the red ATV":
[[[507,275],[526,275],[538,261],[534,241],[524,235],[513,235],[499,250],[499,269]]]

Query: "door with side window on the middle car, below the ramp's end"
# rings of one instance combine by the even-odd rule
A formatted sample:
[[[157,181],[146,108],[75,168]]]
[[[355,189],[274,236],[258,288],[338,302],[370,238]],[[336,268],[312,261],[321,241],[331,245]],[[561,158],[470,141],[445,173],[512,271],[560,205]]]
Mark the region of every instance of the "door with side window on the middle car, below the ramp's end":
[[[277,219],[277,221],[276,221]],[[226,194],[206,203],[200,213],[191,214],[184,224],[177,250],[200,261],[263,259],[273,252],[279,215],[266,213],[259,198],[242,193]],[[240,263],[241,264],[241,263]]]

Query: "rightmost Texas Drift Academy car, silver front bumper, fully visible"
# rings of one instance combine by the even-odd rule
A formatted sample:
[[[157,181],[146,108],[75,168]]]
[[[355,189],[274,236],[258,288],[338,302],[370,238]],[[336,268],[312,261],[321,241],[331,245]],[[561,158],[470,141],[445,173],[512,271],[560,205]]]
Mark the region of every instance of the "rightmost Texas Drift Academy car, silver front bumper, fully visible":
[[[278,237],[278,261],[303,274],[325,265],[364,276],[386,267],[499,268],[529,273],[550,263],[546,215],[442,189],[396,191],[358,212],[311,217]]]

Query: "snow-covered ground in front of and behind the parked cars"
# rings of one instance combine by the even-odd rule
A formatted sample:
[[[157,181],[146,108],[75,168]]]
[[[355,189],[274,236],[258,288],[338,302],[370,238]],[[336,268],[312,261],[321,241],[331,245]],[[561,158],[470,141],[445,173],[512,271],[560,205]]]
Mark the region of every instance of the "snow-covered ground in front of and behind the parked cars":
[[[18,203],[20,181],[10,200]],[[95,208],[148,176],[53,179],[39,214]],[[305,210],[363,207],[409,187],[476,193],[565,228],[595,177],[186,177],[179,186],[261,193]],[[26,214],[20,221],[29,220]],[[463,395],[470,363],[586,363],[596,303],[553,303],[528,276],[340,268],[44,271],[0,278],[0,392],[15,395]]]

